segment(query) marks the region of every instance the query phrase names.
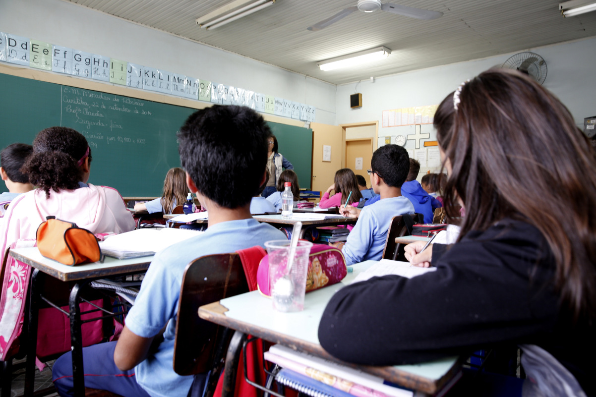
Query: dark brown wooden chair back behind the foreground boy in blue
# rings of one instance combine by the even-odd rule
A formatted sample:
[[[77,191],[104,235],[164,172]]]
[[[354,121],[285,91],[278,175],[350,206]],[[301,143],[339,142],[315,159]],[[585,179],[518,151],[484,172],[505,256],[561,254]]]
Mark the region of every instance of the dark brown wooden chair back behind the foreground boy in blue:
[[[249,291],[237,253],[201,256],[187,265],[178,302],[174,371],[179,375],[219,373],[218,347],[227,349],[232,333],[198,317],[199,306]],[[222,352],[225,354],[225,349]],[[214,371],[215,370],[215,371]]]

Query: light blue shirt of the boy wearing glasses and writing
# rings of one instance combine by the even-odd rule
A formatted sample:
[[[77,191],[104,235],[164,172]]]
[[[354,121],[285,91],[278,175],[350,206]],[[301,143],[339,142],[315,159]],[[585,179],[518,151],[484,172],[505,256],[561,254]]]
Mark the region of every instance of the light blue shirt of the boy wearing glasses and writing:
[[[347,236],[346,245],[342,247],[347,265],[381,259],[391,218],[405,213],[414,213],[414,206],[403,196],[383,198],[364,207],[356,226]]]

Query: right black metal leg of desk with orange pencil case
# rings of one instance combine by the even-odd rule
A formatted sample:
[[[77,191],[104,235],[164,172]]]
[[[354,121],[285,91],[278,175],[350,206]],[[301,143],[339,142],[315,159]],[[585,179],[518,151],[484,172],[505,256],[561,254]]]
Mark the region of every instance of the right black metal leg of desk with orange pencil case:
[[[75,396],[85,396],[85,372],[83,371],[83,337],[80,322],[79,293],[80,284],[76,283],[70,291],[70,349],[73,360],[73,386]]]

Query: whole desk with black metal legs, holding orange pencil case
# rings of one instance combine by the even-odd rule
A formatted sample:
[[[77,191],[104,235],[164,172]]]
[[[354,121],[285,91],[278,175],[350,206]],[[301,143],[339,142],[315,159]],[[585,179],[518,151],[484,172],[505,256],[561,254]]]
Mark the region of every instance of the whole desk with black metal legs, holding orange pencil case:
[[[134,259],[114,259],[105,257],[104,263],[94,262],[85,265],[67,266],[55,260],[45,258],[38,247],[11,249],[10,255],[15,259],[35,268],[31,275],[29,289],[29,337],[27,344],[27,362],[25,372],[24,395],[33,393],[35,379],[35,355],[37,349],[38,302],[46,275],[61,281],[76,281],[70,291],[70,339],[72,343],[73,377],[75,395],[85,396],[85,379],[83,378],[83,346],[79,305],[80,291],[86,284],[98,278],[135,274],[146,271],[153,256]]]

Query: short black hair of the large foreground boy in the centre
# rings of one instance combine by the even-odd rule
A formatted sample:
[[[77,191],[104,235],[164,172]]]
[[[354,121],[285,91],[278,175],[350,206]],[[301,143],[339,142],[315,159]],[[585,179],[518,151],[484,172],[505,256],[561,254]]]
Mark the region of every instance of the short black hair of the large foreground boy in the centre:
[[[267,163],[265,120],[244,106],[214,105],[191,114],[178,133],[178,153],[201,194],[234,209],[250,203]]]

